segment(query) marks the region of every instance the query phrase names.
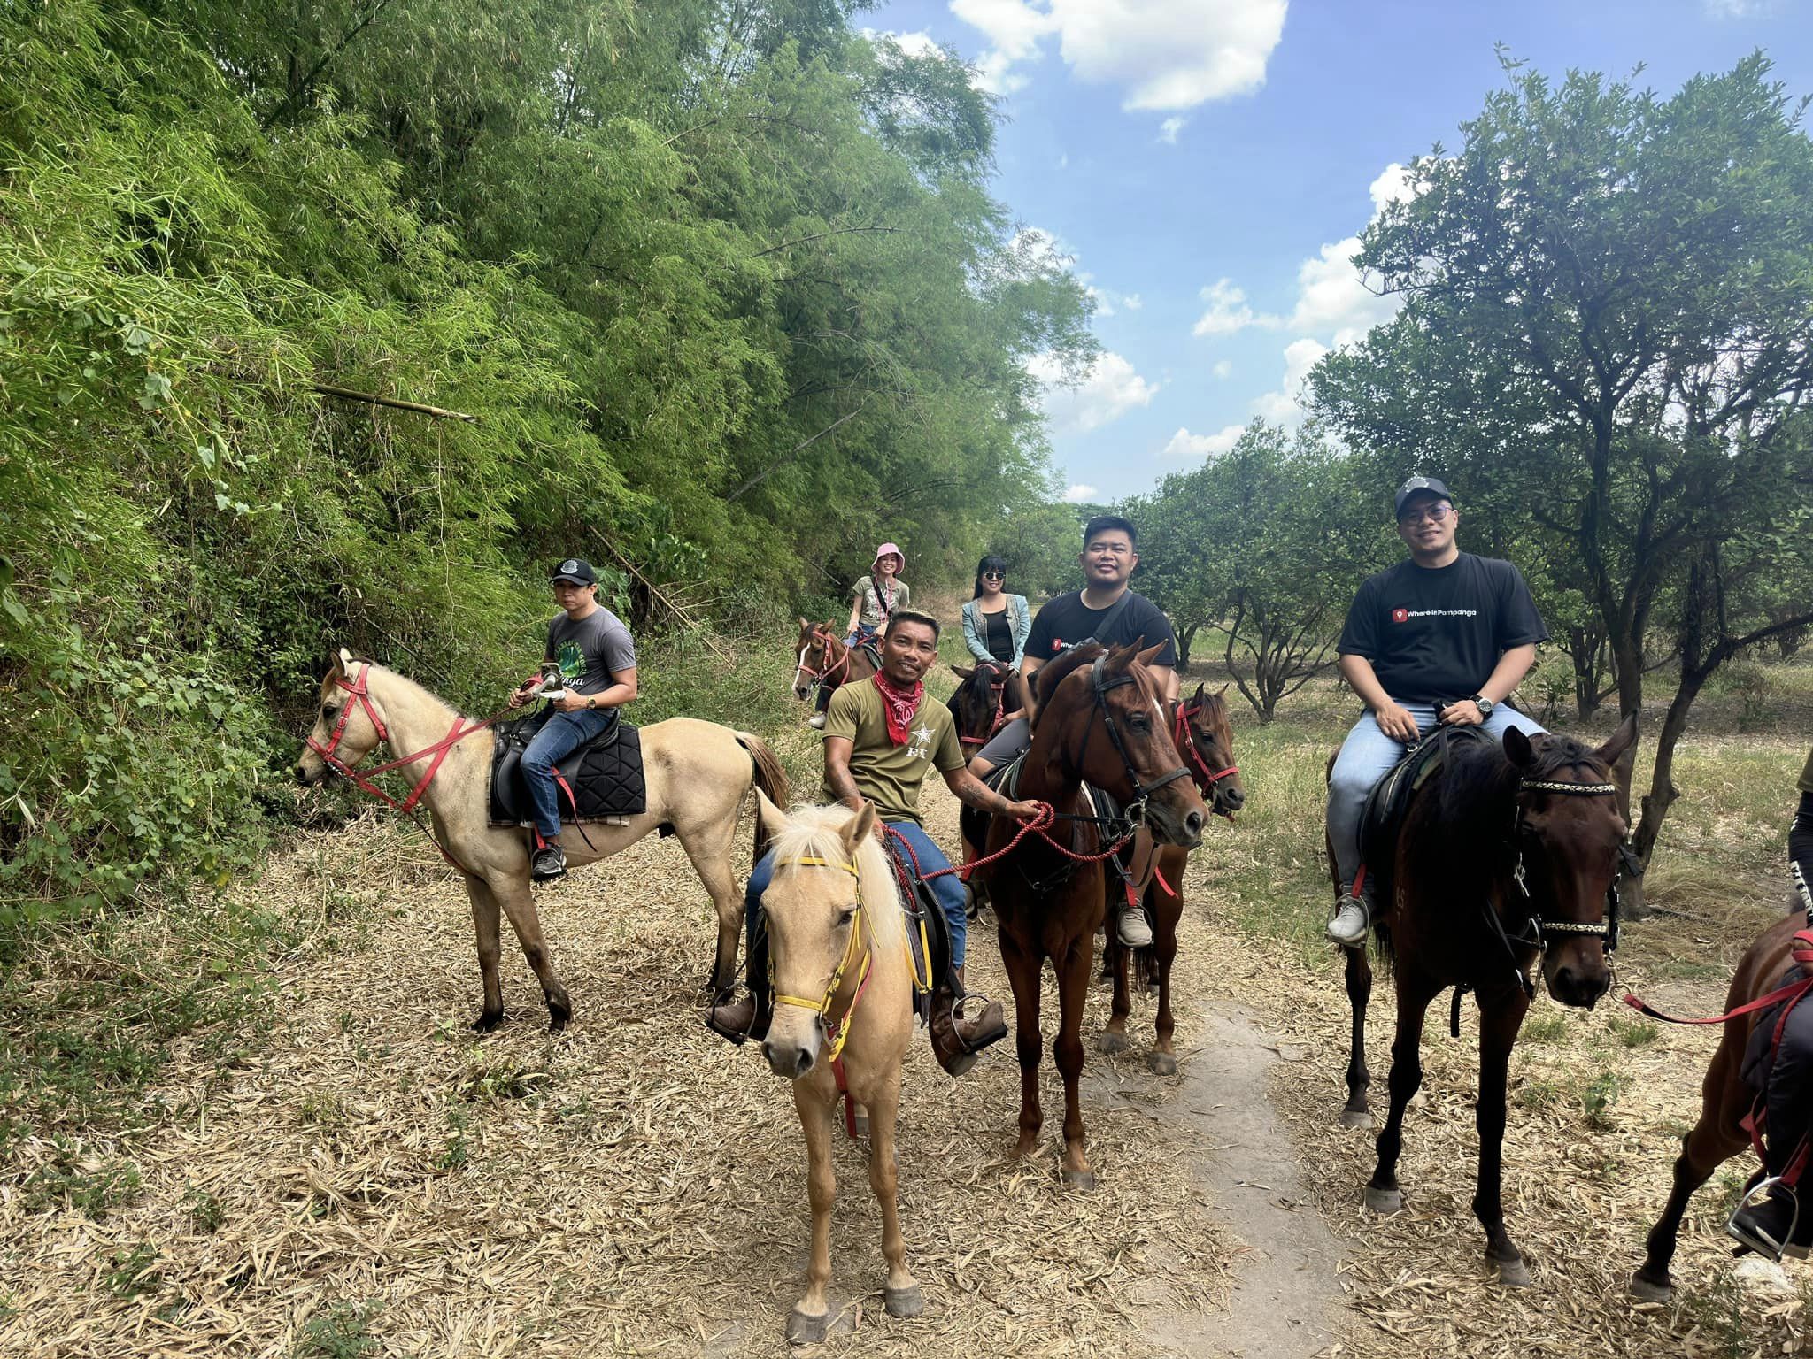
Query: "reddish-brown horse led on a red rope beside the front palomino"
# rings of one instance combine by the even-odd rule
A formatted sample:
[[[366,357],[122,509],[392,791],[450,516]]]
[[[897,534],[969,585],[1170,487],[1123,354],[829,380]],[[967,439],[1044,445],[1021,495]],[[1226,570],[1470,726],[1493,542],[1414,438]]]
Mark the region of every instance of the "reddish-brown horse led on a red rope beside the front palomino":
[[[992,899],[1001,931],[1001,960],[1013,984],[1015,1047],[1021,1064],[1021,1136],[1015,1154],[1039,1145],[1039,977],[1052,959],[1057,973],[1059,1031],[1052,1056],[1064,1075],[1066,1185],[1095,1183],[1082,1152],[1082,1006],[1095,966],[1095,930],[1102,922],[1102,859],[1144,823],[1162,844],[1186,850],[1202,841],[1207,806],[1189,781],[1159,687],[1146,665],[1160,647],[1077,647],[1039,670],[1039,725],[1019,777],[1019,797],[1050,805],[1057,834],[1024,835],[994,817],[988,852],[1010,848],[990,864]],[[1095,814],[1084,783],[1106,790],[1128,808],[1113,826]],[[1068,824],[1068,834],[1062,826]],[[1124,834],[1122,834],[1124,830]],[[986,859],[986,855],[984,855]]]

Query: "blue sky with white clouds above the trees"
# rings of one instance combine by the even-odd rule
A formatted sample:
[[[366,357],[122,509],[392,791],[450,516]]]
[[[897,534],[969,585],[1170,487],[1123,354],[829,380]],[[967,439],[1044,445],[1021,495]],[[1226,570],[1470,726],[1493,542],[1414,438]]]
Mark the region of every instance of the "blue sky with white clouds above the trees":
[[[1503,83],[1494,43],[1557,78],[1643,63],[1663,94],[1760,47],[1813,92],[1813,0],[892,0],[859,22],[977,63],[1008,118],[997,198],[1097,292],[1104,357],[1046,406],[1079,500],[1300,419],[1323,350],[1391,312],[1351,237],[1394,167],[1459,145]]]

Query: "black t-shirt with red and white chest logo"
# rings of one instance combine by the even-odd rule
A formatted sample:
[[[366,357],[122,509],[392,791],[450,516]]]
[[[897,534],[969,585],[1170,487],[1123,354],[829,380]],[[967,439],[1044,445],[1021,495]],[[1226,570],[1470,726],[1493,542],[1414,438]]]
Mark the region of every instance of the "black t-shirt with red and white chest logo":
[[[1400,562],[1367,576],[1338,649],[1371,661],[1400,703],[1452,703],[1478,694],[1501,654],[1546,640],[1523,573],[1461,553],[1445,567]]]

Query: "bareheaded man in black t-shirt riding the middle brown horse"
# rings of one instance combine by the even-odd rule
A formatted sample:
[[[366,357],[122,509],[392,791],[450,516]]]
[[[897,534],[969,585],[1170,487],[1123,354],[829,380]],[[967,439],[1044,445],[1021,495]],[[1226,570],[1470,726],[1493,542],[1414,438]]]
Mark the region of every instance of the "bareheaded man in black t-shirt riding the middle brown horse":
[[[1104,647],[1124,647],[1140,638],[1148,647],[1162,641],[1164,651],[1153,658],[1149,669],[1159,681],[1159,696],[1177,698],[1177,636],[1171,632],[1171,620],[1151,600],[1128,589],[1128,578],[1139,565],[1135,542],[1133,525],[1119,515],[1097,515],[1082,525],[1082,556],[1077,560],[1082,564],[1084,585],[1081,591],[1059,594],[1037,612],[1026,638],[1026,654],[1021,656],[1026,716],[1010,721],[975,752],[970,774],[983,777],[1026,754],[1032,745],[1032,723],[1039,719],[1033,676],[1046,661],[1079,641],[1093,638]],[[1122,908],[1120,940],[1129,948],[1151,944],[1144,906]]]

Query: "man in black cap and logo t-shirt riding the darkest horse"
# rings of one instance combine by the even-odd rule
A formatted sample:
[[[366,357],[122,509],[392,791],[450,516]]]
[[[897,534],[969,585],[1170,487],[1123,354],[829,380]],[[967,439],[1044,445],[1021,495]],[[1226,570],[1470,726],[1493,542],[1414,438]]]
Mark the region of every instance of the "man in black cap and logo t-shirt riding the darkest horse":
[[[1342,678],[1365,701],[1329,776],[1329,844],[1342,882],[1329,939],[1358,944],[1369,911],[1352,890],[1360,872],[1360,817],[1367,794],[1403,747],[1445,727],[1492,736],[1543,728],[1505,705],[1548,640],[1530,587],[1510,562],[1454,545],[1459,511],[1434,477],[1398,487],[1398,536],[1411,560],[1367,576],[1347,611],[1338,651]]]

